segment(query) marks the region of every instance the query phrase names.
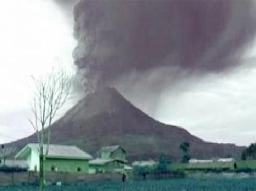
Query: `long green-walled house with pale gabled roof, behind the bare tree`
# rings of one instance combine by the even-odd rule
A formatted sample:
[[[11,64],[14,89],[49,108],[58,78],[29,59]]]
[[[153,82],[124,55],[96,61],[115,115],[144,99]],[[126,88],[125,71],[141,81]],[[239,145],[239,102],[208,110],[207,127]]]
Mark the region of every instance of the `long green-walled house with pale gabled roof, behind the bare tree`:
[[[46,145],[43,150],[46,152]],[[30,171],[39,171],[39,144],[27,144],[15,155],[15,160],[26,160]],[[89,160],[92,156],[76,146],[50,144],[44,168],[45,171],[88,173]]]

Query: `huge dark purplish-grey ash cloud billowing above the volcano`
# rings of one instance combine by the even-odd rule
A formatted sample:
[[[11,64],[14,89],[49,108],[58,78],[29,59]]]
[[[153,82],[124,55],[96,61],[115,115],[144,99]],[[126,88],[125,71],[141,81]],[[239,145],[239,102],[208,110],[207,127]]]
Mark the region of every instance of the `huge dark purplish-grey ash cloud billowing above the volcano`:
[[[253,1],[83,0],[74,8],[73,56],[100,84],[159,67],[225,71],[252,41],[254,15]]]

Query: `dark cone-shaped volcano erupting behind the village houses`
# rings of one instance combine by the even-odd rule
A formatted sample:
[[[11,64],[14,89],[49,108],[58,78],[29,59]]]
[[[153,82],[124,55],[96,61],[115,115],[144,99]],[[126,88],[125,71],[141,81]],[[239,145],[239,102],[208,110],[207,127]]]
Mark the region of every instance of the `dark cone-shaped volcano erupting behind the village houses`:
[[[10,143],[16,150],[37,141],[35,134]],[[96,156],[102,146],[121,145],[129,160],[157,159],[165,154],[178,160],[179,145],[190,143],[196,158],[239,156],[244,147],[205,142],[178,126],[154,120],[133,106],[115,88],[88,94],[52,125],[51,143],[76,145]]]

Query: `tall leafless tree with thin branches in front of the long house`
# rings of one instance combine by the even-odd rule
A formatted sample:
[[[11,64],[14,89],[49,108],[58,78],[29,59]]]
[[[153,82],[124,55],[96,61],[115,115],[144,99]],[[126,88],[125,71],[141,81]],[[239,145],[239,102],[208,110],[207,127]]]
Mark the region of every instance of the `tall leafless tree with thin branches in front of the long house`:
[[[64,69],[53,69],[43,77],[32,77],[34,97],[31,103],[33,119],[29,122],[36,131],[39,143],[39,190],[44,190],[44,161],[51,141],[52,121],[66,103],[72,80]],[[45,146],[44,146],[45,145]],[[44,150],[45,149],[45,150]]]

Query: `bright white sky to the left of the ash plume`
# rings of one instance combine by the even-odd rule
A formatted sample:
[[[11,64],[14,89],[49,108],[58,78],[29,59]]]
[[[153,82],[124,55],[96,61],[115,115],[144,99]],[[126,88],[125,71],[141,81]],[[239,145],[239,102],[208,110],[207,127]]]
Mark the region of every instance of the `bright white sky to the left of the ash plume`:
[[[51,0],[0,3],[0,142],[33,133],[30,117],[31,75],[54,65],[73,67],[72,24]]]

